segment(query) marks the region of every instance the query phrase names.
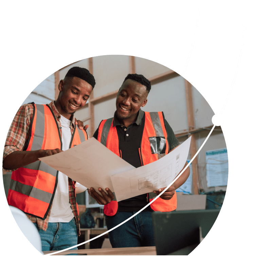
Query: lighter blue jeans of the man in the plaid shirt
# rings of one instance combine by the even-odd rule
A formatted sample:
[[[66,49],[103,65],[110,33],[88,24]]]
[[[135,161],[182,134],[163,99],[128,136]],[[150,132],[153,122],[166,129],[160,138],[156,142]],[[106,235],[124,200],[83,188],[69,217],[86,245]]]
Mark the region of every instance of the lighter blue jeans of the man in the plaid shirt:
[[[34,224],[41,237],[42,251],[59,251],[77,245],[78,236],[74,218],[70,222],[49,222],[46,231],[39,229],[37,223]],[[77,250],[77,247],[72,250]]]

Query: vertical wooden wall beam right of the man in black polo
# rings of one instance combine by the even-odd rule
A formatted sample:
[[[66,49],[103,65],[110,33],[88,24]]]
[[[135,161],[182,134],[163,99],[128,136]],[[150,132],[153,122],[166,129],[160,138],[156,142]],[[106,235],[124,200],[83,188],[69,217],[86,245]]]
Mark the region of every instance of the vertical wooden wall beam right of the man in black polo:
[[[187,116],[188,116],[188,129],[189,131],[195,128],[194,125],[194,112],[193,112],[193,99],[192,99],[192,86],[185,79],[185,92],[186,92],[186,103],[187,103]],[[195,136],[191,137],[190,141],[190,154],[193,158],[197,153],[196,139]],[[197,184],[197,157],[192,161],[192,181],[193,181],[193,192],[198,195],[198,184]]]

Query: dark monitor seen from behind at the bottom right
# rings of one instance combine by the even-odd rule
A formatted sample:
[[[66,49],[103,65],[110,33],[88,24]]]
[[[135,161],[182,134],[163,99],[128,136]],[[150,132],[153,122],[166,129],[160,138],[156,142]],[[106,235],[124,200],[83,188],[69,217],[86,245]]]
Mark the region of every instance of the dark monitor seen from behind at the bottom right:
[[[153,212],[157,255],[168,255],[178,250],[182,250],[181,254],[173,255],[188,255],[200,243],[200,238],[208,234],[219,212],[219,209]]]

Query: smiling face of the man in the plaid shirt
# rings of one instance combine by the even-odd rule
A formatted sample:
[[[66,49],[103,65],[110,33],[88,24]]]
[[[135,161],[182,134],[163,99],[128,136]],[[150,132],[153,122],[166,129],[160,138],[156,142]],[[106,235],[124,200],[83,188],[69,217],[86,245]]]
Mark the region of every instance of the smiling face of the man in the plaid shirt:
[[[59,95],[55,106],[60,115],[71,118],[71,115],[81,107],[84,107],[91,92],[92,86],[78,77],[60,80]]]

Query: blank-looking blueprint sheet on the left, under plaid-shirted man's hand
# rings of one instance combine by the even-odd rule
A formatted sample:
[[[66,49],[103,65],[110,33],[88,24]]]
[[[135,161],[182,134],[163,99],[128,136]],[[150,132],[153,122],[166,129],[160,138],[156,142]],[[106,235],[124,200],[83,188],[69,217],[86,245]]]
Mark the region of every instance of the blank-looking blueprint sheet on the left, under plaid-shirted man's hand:
[[[95,138],[39,159],[87,188],[109,188],[112,192],[110,176],[134,169]]]

